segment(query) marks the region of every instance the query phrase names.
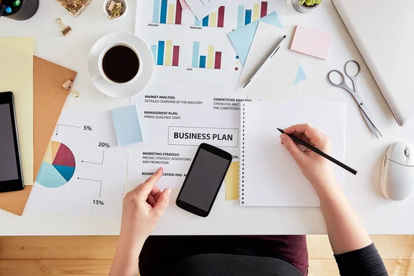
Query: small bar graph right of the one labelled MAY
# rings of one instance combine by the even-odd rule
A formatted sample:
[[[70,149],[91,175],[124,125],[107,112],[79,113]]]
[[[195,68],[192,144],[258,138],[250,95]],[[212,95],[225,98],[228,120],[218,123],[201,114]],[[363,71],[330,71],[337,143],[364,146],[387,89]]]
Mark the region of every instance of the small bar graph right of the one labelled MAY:
[[[193,68],[221,69],[221,52],[215,50],[215,46],[207,47],[207,55],[200,55],[200,42],[193,42]]]

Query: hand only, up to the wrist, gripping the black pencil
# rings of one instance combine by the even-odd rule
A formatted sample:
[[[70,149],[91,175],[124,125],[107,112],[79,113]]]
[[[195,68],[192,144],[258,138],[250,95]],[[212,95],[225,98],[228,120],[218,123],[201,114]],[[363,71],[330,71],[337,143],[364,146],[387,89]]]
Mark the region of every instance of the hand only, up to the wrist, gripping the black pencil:
[[[331,139],[313,126],[299,124],[285,128],[284,132],[295,135],[328,155],[331,153]],[[286,134],[280,135],[280,140],[314,187],[335,183],[331,161],[308,148],[302,151]]]

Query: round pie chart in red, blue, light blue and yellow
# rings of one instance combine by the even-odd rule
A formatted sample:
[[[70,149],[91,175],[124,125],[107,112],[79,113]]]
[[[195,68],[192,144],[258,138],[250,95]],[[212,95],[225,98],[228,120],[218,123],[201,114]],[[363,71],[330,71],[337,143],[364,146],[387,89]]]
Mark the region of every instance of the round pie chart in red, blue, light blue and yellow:
[[[75,167],[72,150],[58,141],[50,141],[36,181],[47,188],[63,186],[72,178]]]

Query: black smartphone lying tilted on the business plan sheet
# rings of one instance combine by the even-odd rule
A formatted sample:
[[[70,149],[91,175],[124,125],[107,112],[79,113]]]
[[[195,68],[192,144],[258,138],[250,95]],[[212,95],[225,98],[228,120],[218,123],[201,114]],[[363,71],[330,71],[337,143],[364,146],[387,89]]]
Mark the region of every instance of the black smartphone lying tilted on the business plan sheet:
[[[207,217],[231,160],[230,153],[209,144],[201,144],[179,190],[177,206],[200,217]]]

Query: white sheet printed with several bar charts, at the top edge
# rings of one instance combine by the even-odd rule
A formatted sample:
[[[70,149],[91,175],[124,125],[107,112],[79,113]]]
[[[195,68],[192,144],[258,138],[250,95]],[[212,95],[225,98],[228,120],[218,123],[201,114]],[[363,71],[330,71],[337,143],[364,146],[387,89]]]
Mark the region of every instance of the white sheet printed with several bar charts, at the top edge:
[[[137,3],[135,33],[150,46],[155,82],[235,88],[242,64],[228,32],[271,12],[277,12],[284,21],[283,0],[194,0],[206,7],[213,2],[217,6],[206,8],[208,11],[199,17],[183,10],[179,0]]]

